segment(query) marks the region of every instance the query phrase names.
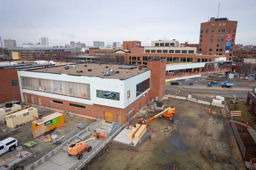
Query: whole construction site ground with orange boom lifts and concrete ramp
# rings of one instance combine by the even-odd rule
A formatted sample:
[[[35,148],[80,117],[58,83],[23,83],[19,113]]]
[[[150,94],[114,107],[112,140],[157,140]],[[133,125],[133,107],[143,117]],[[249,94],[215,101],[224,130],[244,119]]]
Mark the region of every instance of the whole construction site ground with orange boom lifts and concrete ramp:
[[[35,108],[44,117],[56,113]],[[35,137],[31,123],[15,129],[2,124],[1,139],[12,136],[24,150],[2,155],[1,169],[11,169],[5,163],[25,169],[245,169],[221,107],[165,97],[162,108],[145,106],[126,126],[69,113],[63,117],[65,124],[48,138]],[[53,134],[59,139],[52,139]],[[28,142],[32,145],[26,147]],[[79,144],[86,145],[83,151],[75,151]],[[11,166],[20,154],[27,158]]]

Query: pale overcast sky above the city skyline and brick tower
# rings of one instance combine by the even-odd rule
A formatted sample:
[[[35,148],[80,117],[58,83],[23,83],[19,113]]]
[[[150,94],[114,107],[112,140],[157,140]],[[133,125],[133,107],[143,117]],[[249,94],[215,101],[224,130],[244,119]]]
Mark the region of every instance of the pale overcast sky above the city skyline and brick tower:
[[[1,0],[0,36],[51,45],[176,39],[199,43],[200,23],[217,17],[219,0]],[[220,0],[220,17],[237,20],[236,44],[256,45],[256,0]]]

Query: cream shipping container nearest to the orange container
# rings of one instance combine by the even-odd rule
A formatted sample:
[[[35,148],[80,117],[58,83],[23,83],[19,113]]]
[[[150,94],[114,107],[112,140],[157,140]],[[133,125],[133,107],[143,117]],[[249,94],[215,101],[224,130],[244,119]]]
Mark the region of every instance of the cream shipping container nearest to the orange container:
[[[6,126],[14,128],[16,125],[31,122],[31,120],[33,119],[32,116],[38,117],[37,109],[33,107],[9,114],[5,116]]]

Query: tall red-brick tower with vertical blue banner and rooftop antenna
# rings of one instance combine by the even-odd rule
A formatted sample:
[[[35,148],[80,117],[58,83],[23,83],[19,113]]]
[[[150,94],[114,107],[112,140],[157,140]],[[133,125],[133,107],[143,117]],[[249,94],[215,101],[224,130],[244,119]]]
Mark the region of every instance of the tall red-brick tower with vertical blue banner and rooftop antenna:
[[[201,23],[198,53],[210,56],[226,56],[231,60],[238,21],[211,17]]]

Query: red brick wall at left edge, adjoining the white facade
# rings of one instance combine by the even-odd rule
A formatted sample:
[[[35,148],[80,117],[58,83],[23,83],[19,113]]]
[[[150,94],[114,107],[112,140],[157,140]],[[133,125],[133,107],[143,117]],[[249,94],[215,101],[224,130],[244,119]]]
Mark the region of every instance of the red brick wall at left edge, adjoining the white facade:
[[[0,103],[17,100],[21,103],[19,81],[16,68],[0,69]],[[17,80],[17,86],[12,86],[12,80]]]

